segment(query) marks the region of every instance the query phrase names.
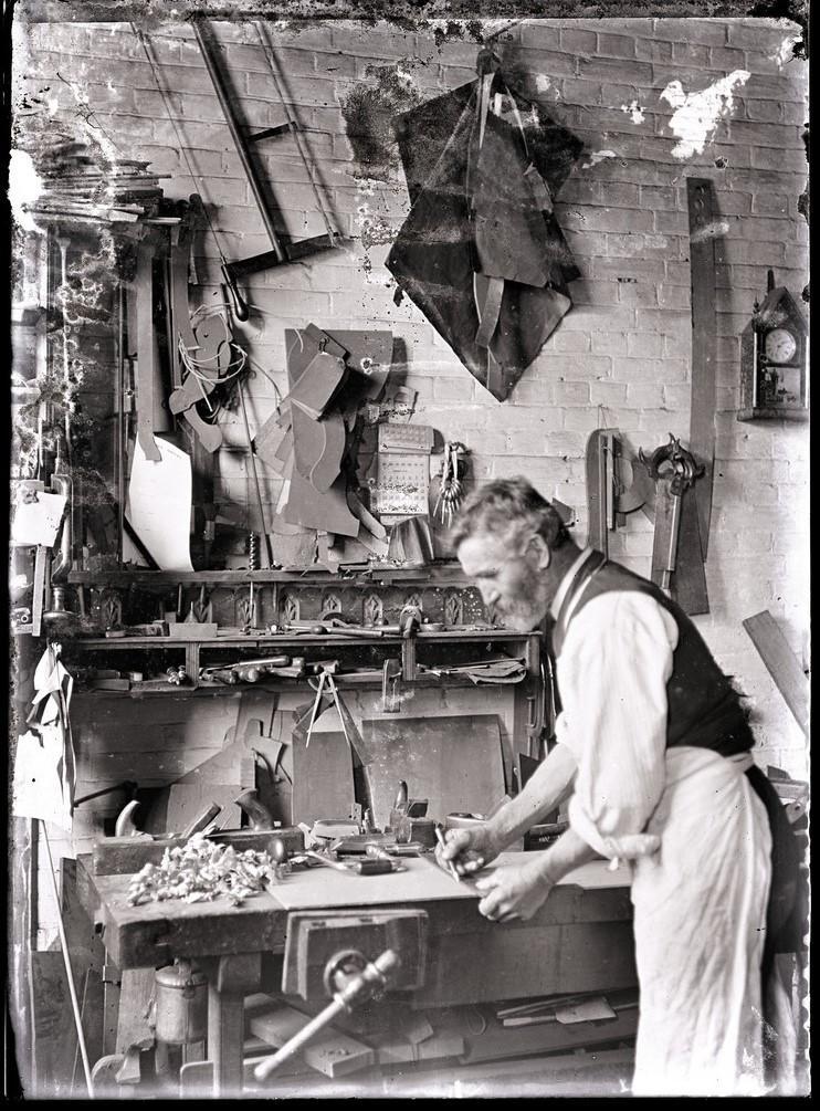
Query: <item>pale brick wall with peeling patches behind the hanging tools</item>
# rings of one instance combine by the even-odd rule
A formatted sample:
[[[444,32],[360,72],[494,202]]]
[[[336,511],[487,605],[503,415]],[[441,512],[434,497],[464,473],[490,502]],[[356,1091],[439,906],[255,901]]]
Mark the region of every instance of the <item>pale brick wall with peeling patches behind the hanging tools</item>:
[[[276,94],[252,23],[222,22],[217,37],[247,121],[280,123]],[[397,109],[474,77],[478,46],[434,27],[389,23],[276,24],[277,57],[343,250],[259,274],[246,287],[257,311],[242,339],[267,376],[251,384],[260,423],[284,388],[283,331],[313,321],[328,328],[389,328],[403,339],[397,380],[418,390],[416,419],[464,441],[477,479],[522,472],[578,513],[586,532],[584,446],[600,424],[633,448],[654,449],[689,427],[691,322],[686,181],[714,182],[724,233],[719,241],[717,459],[707,565],[711,613],[698,624],[720,662],[750,697],[761,763],[806,774],[802,734],[741,627],[769,609],[808,665],[808,433],[804,426],[739,423],[740,332],[768,268],[800,296],[808,267],[807,224],[798,198],[807,183],[802,140],[807,66],[788,21],[528,20],[499,40],[516,81],[584,142],[586,154],[557,212],[582,277],[573,308],[508,401],[478,386],[383,266],[408,198],[397,151],[362,164],[346,121],[366,90],[383,126]],[[157,92],[141,47],[126,23],[18,27],[18,124],[48,112],[78,131],[110,138],[123,156],[150,159],[171,174],[166,192],[198,191],[209,204],[229,259],[268,248],[222,112],[188,28],[151,29],[174,122]],[[58,74],[59,70],[59,77]],[[679,158],[673,107],[661,93],[678,81],[697,92],[736,71],[731,110],[702,153]],[[366,98],[367,99],[367,98]],[[89,116],[91,109],[93,116]],[[83,117],[87,122],[83,122]],[[178,131],[190,149],[181,156]],[[372,128],[371,128],[372,131]],[[276,146],[274,146],[276,144]],[[273,140],[264,163],[289,231],[324,230],[291,139]],[[190,172],[197,176],[196,184]],[[219,299],[218,251],[199,248],[204,304]],[[234,420],[228,417],[227,420]],[[240,437],[226,429],[232,442]],[[247,497],[247,459],[220,452],[223,497]],[[271,493],[277,477],[266,476]],[[641,514],[611,537],[611,552],[648,573],[651,526]]]

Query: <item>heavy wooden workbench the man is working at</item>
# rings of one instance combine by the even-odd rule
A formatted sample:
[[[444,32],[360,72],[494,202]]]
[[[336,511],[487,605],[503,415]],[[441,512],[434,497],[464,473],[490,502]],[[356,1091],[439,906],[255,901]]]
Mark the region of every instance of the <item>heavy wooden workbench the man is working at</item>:
[[[520,859],[504,853],[496,863]],[[609,871],[604,861],[570,873],[530,921],[506,924],[484,919],[473,883],[456,882],[431,857],[402,863],[406,871],[387,875],[294,870],[240,907],[224,899],[131,907],[130,875],[96,875],[91,858],[80,858],[78,889],[120,970],[188,958],[204,972],[207,1057],[217,1095],[242,1090],[246,997],[272,991],[287,1001],[297,980],[303,984],[316,973],[297,974],[293,964],[306,918],[338,928],[336,948],[350,948],[353,939],[368,960],[384,949],[386,937],[407,940],[403,982],[414,987],[390,991],[374,1007],[399,998],[413,1010],[448,1008],[637,984],[629,877]],[[384,927],[391,917],[401,921]]]

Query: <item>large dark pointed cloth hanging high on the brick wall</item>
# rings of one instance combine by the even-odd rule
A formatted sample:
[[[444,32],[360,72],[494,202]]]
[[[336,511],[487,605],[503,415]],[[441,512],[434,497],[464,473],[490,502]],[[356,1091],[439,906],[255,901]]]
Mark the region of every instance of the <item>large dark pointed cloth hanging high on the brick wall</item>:
[[[412,204],[387,260],[397,296],[503,401],[571,308],[580,272],[552,201],[583,144],[498,72],[394,127]]]

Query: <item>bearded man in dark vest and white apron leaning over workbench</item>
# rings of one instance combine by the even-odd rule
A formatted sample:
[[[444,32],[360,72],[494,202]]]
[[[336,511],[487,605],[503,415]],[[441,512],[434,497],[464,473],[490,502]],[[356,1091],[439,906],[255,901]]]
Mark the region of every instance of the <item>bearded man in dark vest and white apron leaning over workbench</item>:
[[[439,859],[479,870],[571,792],[554,844],[478,880],[480,912],[528,919],[572,869],[623,862],[640,984],[633,1093],[760,1093],[772,823],[782,834],[786,819],[738,694],[686,613],[579,549],[527,480],[479,490],[452,546],[503,624],[549,627],[562,709],[527,787],[484,824],[451,830]],[[777,895],[781,921],[789,893]]]

